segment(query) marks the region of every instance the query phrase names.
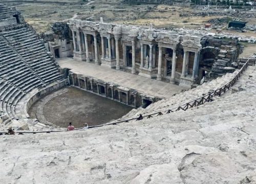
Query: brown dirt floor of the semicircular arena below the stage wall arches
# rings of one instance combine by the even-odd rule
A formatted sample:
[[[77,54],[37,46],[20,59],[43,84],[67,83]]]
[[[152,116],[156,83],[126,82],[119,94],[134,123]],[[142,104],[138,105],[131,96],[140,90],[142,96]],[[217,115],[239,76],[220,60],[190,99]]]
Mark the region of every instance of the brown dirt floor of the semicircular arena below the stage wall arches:
[[[88,123],[89,126],[108,123],[132,109],[130,106],[88,91],[75,87],[67,87],[67,89],[66,93],[52,98],[42,108],[46,120],[60,127],[67,127],[69,122],[72,122],[76,128],[83,127],[84,123]],[[35,113],[38,112],[42,101],[44,98],[30,109],[31,118],[36,118]]]

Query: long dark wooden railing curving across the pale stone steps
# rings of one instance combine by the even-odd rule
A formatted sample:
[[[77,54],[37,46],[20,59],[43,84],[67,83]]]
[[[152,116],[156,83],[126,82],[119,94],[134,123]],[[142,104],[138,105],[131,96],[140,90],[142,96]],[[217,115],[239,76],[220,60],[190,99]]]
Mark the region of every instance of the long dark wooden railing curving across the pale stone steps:
[[[102,126],[106,126],[106,125],[117,125],[119,123],[125,123],[125,122],[129,122],[129,121],[133,121],[133,120],[136,120],[136,121],[140,121],[144,118],[153,118],[154,116],[161,116],[163,114],[169,114],[171,112],[175,112],[175,111],[179,111],[179,110],[187,110],[189,108],[192,108],[192,107],[196,107],[196,106],[199,106],[199,105],[202,105],[206,102],[211,102],[211,101],[214,101],[212,98],[215,97],[215,96],[221,96],[222,94],[224,94],[226,92],[226,90],[228,90],[231,86],[233,86],[233,84],[239,79],[239,77],[243,74],[243,72],[246,70],[246,68],[248,67],[249,65],[249,61],[250,61],[250,58],[246,61],[246,63],[242,66],[242,68],[240,69],[239,73],[233,77],[232,80],[230,80],[229,82],[227,82],[225,85],[223,85],[222,87],[214,90],[214,91],[211,91],[210,93],[208,93],[207,95],[204,95],[200,98],[197,98],[195,100],[192,100],[190,102],[187,102],[187,103],[184,103],[182,105],[179,105],[177,107],[174,107],[174,108],[170,108],[170,109],[167,109],[167,110],[163,110],[163,111],[158,111],[158,112],[154,112],[154,113],[151,113],[151,114],[146,114],[140,118],[131,118],[131,119],[126,119],[126,120],[122,120],[122,121],[117,121],[117,122],[112,122],[112,123],[106,123],[106,124],[102,124],[102,125],[94,125],[94,126],[89,126],[88,129],[90,128],[98,128],[98,127],[102,127]],[[75,130],[81,130],[83,128],[76,128]],[[51,132],[66,132],[67,130],[52,130],[52,131],[20,131],[20,132],[16,132],[17,134],[24,134],[24,133],[32,133],[32,134],[35,134],[35,133],[51,133]],[[1,132],[0,131],[0,135],[3,135],[3,134],[8,134],[7,132]]]

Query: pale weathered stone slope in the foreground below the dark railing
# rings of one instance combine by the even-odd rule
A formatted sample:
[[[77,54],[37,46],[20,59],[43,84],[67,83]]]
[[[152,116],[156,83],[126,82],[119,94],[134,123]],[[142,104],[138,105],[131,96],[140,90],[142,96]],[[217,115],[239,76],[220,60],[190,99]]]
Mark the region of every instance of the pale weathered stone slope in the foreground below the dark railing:
[[[227,94],[187,111],[86,131],[0,135],[0,183],[256,183],[255,101],[250,66]]]

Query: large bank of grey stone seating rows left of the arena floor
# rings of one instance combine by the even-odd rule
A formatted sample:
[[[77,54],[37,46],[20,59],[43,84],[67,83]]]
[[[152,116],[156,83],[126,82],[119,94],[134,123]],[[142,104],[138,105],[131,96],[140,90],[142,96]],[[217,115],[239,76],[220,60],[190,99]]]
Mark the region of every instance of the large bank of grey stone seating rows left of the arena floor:
[[[0,116],[3,124],[22,118],[18,102],[33,89],[62,78],[37,34],[27,27],[0,33]],[[26,104],[24,104],[26,105]]]

